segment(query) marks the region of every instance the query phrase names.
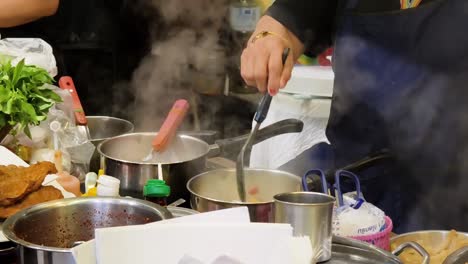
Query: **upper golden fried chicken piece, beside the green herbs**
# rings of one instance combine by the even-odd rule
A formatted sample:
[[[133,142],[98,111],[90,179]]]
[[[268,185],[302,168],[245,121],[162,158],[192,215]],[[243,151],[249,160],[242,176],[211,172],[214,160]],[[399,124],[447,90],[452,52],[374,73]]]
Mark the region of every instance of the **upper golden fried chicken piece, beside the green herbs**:
[[[9,206],[38,190],[48,174],[57,173],[51,162],[30,167],[0,166],[0,206]]]

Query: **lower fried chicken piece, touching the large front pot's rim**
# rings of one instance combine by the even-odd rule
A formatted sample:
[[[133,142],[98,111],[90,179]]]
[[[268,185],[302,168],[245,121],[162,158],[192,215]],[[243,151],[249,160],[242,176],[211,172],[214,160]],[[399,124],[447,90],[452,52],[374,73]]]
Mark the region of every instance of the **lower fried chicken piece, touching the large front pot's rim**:
[[[63,198],[63,195],[60,190],[53,186],[43,186],[14,205],[0,207],[0,218],[7,218],[27,207],[61,198]]]

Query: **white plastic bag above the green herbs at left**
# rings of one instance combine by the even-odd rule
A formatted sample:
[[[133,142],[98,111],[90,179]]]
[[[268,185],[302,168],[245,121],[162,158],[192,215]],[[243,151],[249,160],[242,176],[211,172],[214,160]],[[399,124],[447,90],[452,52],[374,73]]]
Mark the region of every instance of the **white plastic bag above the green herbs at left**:
[[[16,65],[22,59],[26,64],[45,69],[52,77],[57,75],[57,64],[52,47],[39,38],[7,38],[0,40],[0,55],[12,59]]]

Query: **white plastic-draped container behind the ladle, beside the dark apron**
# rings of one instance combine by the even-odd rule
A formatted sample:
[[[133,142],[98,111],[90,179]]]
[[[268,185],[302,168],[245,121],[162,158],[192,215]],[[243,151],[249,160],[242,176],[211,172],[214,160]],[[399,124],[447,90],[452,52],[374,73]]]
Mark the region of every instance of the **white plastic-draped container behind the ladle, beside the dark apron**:
[[[331,67],[295,66],[291,80],[273,97],[262,127],[283,119],[304,122],[302,133],[265,140],[252,148],[250,166],[277,169],[317,143],[328,143],[325,128],[330,115],[334,74]]]

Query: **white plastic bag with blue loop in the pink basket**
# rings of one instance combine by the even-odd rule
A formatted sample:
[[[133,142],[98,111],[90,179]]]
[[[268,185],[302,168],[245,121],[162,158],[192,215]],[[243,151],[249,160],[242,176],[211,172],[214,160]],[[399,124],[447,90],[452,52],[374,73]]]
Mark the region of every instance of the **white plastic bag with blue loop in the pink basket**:
[[[356,192],[342,195],[340,177],[343,176],[354,180]],[[338,196],[338,207],[333,212],[332,232],[334,235],[344,237],[372,235],[385,229],[385,213],[366,202],[356,175],[348,171],[337,172],[335,190]]]

